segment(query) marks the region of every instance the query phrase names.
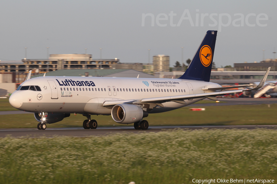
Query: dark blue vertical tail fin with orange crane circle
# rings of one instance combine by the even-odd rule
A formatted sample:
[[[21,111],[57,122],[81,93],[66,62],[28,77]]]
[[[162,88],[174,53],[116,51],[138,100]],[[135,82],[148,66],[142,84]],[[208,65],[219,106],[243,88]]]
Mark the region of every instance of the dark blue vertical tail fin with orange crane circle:
[[[179,79],[210,81],[217,31],[207,31],[186,72]]]

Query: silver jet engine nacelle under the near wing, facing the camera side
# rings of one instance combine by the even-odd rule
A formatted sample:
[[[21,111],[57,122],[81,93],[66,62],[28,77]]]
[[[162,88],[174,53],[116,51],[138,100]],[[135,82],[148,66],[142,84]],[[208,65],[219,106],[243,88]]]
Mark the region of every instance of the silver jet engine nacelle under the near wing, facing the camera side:
[[[118,104],[114,105],[111,115],[115,122],[129,124],[138,122],[143,117],[147,117],[148,113],[143,111],[138,105]]]

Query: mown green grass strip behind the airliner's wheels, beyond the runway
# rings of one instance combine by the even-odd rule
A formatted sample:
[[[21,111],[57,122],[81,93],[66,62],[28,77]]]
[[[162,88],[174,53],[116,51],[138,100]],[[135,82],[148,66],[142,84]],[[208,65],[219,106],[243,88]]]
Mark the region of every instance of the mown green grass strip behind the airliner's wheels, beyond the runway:
[[[199,106],[201,107],[201,106]],[[205,111],[190,111],[183,107],[173,111],[149,114],[144,118],[154,125],[276,125],[277,105],[224,105],[207,106]],[[98,126],[126,126],[113,121],[111,116],[91,116]],[[71,114],[62,121],[47,127],[82,127],[86,117]],[[0,128],[36,128],[33,114],[0,115]],[[133,126],[133,124],[127,125]]]

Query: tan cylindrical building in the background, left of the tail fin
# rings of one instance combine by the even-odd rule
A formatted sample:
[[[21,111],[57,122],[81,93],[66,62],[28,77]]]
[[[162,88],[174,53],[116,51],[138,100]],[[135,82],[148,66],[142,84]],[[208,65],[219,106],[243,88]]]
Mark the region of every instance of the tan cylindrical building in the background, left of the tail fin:
[[[156,55],[153,56],[154,73],[169,71],[169,56]]]

